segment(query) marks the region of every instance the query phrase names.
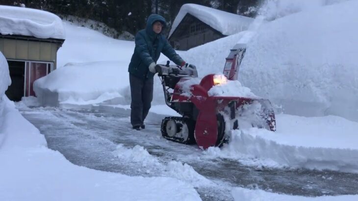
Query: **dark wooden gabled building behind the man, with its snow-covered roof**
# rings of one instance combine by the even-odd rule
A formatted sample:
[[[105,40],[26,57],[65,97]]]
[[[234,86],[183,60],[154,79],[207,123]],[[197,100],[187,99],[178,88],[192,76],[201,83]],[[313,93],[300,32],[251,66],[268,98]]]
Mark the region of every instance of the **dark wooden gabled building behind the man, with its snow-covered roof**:
[[[184,4],[173,22],[168,40],[176,50],[189,50],[247,30],[253,20],[202,5]]]

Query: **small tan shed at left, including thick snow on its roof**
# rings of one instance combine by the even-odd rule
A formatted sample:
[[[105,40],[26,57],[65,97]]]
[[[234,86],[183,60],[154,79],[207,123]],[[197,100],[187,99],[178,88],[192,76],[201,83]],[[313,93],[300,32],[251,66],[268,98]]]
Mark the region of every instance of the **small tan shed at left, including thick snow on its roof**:
[[[19,101],[35,96],[33,82],[56,69],[57,50],[64,42],[62,22],[52,13],[29,8],[0,6],[0,12],[0,51],[9,64],[11,77],[5,94],[10,100]]]

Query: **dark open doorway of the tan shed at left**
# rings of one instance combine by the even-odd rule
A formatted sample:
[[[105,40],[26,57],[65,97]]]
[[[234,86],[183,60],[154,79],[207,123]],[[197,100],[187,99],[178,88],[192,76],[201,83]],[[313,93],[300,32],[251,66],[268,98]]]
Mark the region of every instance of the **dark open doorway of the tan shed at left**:
[[[7,61],[11,77],[11,85],[5,92],[6,96],[13,101],[20,101],[24,96],[25,62]]]

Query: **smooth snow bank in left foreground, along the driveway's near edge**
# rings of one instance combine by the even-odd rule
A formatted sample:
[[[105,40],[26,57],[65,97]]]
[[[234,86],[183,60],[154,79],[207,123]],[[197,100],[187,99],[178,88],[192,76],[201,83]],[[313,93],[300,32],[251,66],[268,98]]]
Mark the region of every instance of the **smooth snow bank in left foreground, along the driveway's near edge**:
[[[45,137],[6,97],[0,111],[0,136],[6,136],[0,141],[0,200],[48,201],[56,195],[57,200],[201,200],[191,184],[175,178],[131,177],[73,165],[47,148]]]

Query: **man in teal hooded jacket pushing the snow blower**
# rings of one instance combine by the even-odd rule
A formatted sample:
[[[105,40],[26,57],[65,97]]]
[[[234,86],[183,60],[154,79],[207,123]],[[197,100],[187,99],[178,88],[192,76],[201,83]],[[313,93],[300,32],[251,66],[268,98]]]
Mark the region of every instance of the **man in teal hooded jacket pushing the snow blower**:
[[[130,123],[133,129],[145,128],[144,119],[153,100],[153,76],[160,53],[179,66],[185,65],[185,61],[162,34],[165,27],[165,19],[152,14],[147,19],[146,28],[138,31],[135,36],[135,48],[128,67],[131,94]]]

